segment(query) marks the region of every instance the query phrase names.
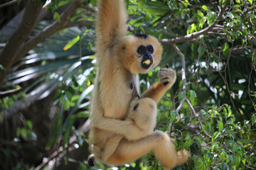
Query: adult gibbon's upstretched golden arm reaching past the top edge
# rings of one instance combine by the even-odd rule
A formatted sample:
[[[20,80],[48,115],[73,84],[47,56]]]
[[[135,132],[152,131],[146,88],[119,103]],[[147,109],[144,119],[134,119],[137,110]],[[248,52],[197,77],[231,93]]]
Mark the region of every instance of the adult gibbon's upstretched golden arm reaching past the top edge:
[[[97,4],[97,51],[104,51],[113,47],[119,37],[127,34],[127,22],[124,1],[99,0]]]

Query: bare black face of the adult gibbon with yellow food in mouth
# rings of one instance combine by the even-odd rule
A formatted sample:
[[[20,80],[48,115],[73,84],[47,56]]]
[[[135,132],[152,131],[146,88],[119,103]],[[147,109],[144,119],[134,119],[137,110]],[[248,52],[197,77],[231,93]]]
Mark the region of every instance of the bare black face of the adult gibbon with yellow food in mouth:
[[[154,48],[152,45],[139,45],[137,48],[137,53],[142,56],[142,67],[144,69],[149,69],[153,64],[154,60],[151,54],[153,54]],[[150,61],[150,62],[149,62]]]

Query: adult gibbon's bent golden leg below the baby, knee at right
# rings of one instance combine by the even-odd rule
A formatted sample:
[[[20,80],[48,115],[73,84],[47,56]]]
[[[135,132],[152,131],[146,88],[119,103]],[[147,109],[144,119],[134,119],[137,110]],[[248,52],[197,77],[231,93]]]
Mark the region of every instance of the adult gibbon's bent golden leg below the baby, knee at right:
[[[144,137],[142,140],[122,139],[114,154],[107,159],[107,164],[118,165],[132,162],[150,151],[154,152],[156,159],[161,162],[164,169],[172,169],[178,163],[178,154],[171,138],[166,133],[156,130],[152,135]],[[186,162],[188,157],[183,154],[179,159]]]

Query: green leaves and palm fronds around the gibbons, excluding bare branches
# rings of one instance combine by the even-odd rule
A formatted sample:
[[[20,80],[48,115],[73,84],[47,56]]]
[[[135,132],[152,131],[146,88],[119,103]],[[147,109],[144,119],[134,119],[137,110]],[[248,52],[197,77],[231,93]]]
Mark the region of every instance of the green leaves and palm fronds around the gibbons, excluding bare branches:
[[[164,44],[160,67],[169,65],[177,72],[173,88],[159,103],[156,129],[174,138],[176,149],[188,149],[192,157],[187,164],[176,169],[255,169],[256,168],[256,54],[255,54],[255,1],[230,1],[211,30],[183,42],[177,40],[208,28],[227,1],[170,1],[127,0],[130,34],[147,33]],[[48,11],[60,22],[56,12],[59,6],[70,1],[52,1]],[[83,1],[84,5],[95,1]],[[72,19],[94,18],[94,13],[78,9]],[[33,34],[40,33],[50,23],[41,22]],[[182,60],[171,43],[185,55],[186,81],[181,77]],[[66,164],[73,146],[82,148],[87,136],[80,132],[80,124],[88,118],[90,92],[97,67],[93,56],[95,30],[93,27],[69,28],[38,44],[6,76],[2,89],[18,89],[18,94],[0,100],[0,123],[4,111],[17,101],[39,94],[38,100],[54,94],[50,131],[43,142],[43,157],[54,159],[48,153],[65,152]],[[0,69],[4,69],[0,65]],[[149,74],[140,75],[141,91],[158,80],[158,67]],[[183,82],[186,82],[183,86]],[[178,110],[179,106],[181,109]],[[2,112],[3,111],[3,112]],[[36,113],[33,113],[36,114]],[[24,144],[37,144],[36,123],[21,111],[14,135],[0,135],[0,158],[17,159],[14,152]],[[8,125],[6,124],[8,127]],[[4,130],[4,129],[3,129]],[[10,132],[11,133],[11,132]],[[8,135],[7,135],[8,136]],[[71,141],[75,137],[77,142]],[[14,144],[14,145],[13,145]],[[33,148],[33,147],[31,147]],[[48,150],[48,152],[46,152]],[[22,154],[18,153],[19,157]],[[86,153],[89,154],[89,153]],[[4,156],[1,156],[4,155]],[[43,158],[41,156],[41,159]],[[16,168],[38,166],[26,159],[16,161]],[[89,169],[85,159],[78,169]],[[45,165],[46,166],[46,165]],[[117,168],[96,162],[98,169],[161,169],[154,154],[132,164]],[[1,165],[0,165],[1,168]]]

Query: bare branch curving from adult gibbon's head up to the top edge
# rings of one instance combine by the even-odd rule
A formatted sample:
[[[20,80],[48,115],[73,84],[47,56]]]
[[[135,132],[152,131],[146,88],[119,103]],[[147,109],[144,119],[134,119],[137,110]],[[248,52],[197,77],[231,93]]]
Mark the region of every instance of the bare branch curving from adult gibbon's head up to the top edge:
[[[229,2],[230,2],[230,0],[226,1],[225,6],[221,8],[221,11],[220,11],[220,13],[218,13],[218,16],[215,19],[215,21],[207,28],[204,28],[203,30],[199,30],[196,33],[191,33],[191,34],[185,35],[183,37],[172,38],[171,40],[163,39],[163,40],[160,40],[161,43],[166,44],[166,45],[174,45],[176,43],[185,42],[185,41],[192,40],[194,38],[198,38],[200,35],[204,35],[204,34],[208,33],[209,31],[213,30],[214,26],[221,20],[223,13],[225,12],[225,8],[227,8]]]

